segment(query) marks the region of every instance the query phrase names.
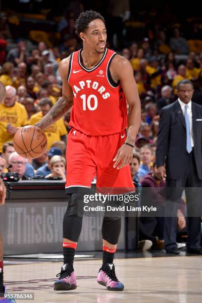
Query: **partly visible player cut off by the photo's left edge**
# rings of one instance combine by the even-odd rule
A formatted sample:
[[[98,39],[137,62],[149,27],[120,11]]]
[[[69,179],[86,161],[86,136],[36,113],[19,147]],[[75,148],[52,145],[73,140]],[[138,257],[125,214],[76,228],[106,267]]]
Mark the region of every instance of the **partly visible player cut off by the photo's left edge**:
[[[2,84],[2,82],[0,82],[0,103],[4,101],[5,96],[6,96],[5,86]],[[6,188],[0,179],[0,205],[3,205],[5,203],[5,196],[6,196]],[[3,285],[3,243],[0,234],[0,303],[15,302],[2,297],[2,294],[5,294],[5,286]]]

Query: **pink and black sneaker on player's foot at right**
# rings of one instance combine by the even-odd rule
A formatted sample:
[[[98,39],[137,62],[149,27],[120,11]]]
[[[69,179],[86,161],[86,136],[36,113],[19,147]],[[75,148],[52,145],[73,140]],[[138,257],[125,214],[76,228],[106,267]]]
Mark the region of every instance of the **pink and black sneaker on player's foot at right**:
[[[98,283],[106,286],[106,289],[110,291],[122,291],[124,289],[124,285],[116,277],[113,263],[106,263],[103,269],[99,270]]]

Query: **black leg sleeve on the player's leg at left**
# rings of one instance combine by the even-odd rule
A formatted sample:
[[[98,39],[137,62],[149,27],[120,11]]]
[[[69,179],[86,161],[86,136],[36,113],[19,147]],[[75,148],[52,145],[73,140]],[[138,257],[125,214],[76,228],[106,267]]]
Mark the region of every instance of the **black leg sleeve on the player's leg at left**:
[[[70,194],[67,210],[63,218],[63,238],[77,242],[82,230],[83,195]]]

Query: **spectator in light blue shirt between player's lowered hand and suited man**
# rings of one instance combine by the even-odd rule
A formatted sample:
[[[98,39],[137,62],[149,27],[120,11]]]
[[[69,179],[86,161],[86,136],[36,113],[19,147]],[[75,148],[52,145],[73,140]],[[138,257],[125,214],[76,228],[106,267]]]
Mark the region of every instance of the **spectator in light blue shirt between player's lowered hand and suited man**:
[[[145,175],[151,172],[151,163],[152,163],[152,148],[148,145],[143,146],[140,149],[140,159],[141,164],[138,169],[140,177],[143,178]]]

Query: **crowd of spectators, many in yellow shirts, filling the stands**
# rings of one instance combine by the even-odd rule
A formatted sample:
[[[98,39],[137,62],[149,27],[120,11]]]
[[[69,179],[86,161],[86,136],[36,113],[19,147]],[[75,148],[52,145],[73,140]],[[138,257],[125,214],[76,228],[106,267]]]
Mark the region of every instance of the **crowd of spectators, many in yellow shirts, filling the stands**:
[[[26,11],[23,5],[27,5],[30,14],[29,2],[33,4],[35,1],[19,2],[22,12]],[[132,179],[136,187],[149,186],[149,183],[151,187],[163,187],[164,181],[157,180],[155,174],[159,113],[162,107],[177,99],[175,89],[183,79],[191,80],[194,85],[192,101],[202,104],[202,20],[193,17],[180,23],[168,4],[159,16],[154,7],[148,12],[140,10],[133,14],[129,1],[124,1],[124,5],[119,0],[108,2],[105,16],[106,25],[110,20],[107,47],[131,62],[142,106],[142,123],[131,162]],[[43,15],[41,4],[34,4],[38,6],[32,17],[11,10],[0,13],[0,81],[7,92],[4,103],[0,105],[0,173],[9,167],[9,171],[17,171],[22,180],[40,176],[65,180],[70,111],[46,130],[47,151],[37,159],[27,161],[17,155],[12,139],[17,127],[38,122],[61,96],[58,63],[82,47],[74,25],[85,7],[82,1],[70,1],[63,10],[64,15],[53,18],[52,10]],[[54,39],[46,31],[52,24],[50,16],[58,34],[52,35]],[[31,32],[26,36],[23,31],[21,36],[20,25],[25,19],[30,23],[34,18],[47,22],[44,23],[45,30],[39,31],[38,36]],[[182,210],[179,210],[178,220],[179,228],[184,228],[186,223]],[[155,224],[147,223],[150,232],[154,227],[162,226],[160,219],[155,219]],[[162,234],[152,238],[143,228],[141,237],[143,240],[151,239],[153,247],[163,247]]]

